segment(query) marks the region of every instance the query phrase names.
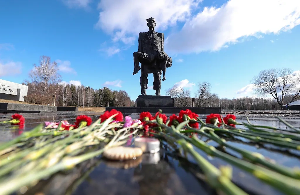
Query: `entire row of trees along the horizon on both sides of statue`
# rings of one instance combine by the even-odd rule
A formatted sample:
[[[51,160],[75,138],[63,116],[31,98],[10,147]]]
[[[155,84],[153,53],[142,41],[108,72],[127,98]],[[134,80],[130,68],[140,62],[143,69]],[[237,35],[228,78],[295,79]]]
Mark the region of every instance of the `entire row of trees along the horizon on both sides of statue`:
[[[111,90],[104,87],[93,89],[84,85],[69,85],[63,83],[58,74],[56,62],[51,62],[50,57],[41,56],[39,64],[33,64],[29,73],[28,95],[25,101],[36,104],[50,104],[58,106],[134,106],[128,93],[124,90]],[[199,82],[195,93],[195,107],[221,107],[221,109],[237,110],[280,110],[283,104],[290,103],[300,98],[300,73],[293,73],[289,68],[269,69],[261,71],[251,80],[253,89],[259,98],[218,98],[211,93],[209,82]],[[173,88],[166,91],[167,95],[174,98],[176,107],[191,107],[192,96],[189,89]],[[273,99],[263,98],[270,95]]]

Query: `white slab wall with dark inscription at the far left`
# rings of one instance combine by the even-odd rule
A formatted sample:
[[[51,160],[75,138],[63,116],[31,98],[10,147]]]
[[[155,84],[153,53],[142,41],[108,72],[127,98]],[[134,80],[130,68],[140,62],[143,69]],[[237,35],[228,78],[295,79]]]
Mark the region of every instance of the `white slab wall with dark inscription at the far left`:
[[[24,101],[28,86],[0,79],[0,99]]]

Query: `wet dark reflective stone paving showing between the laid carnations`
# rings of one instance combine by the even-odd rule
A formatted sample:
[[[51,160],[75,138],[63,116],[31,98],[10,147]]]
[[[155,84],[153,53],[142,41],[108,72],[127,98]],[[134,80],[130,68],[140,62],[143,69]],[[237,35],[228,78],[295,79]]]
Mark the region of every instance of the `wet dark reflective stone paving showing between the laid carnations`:
[[[58,112],[41,114],[23,114],[26,118],[25,131],[45,121],[60,121],[63,119],[73,123],[77,115],[88,115],[93,121],[97,120],[101,113],[87,112]],[[11,114],[0,114],[0,120],[10,118]],[[139,117],[137,114],[129,114],[132,118]],[[206,115],[200,115],[205,119]],[[279,128],[286,128],[274,116],[260,117],[250,116],[250,122],[256,125],[268,125]],[[283,118],[295,127],[300,126],[298,117]],[[245,116],[237,116],[238,122],[246,122]],[[0,127],[1,128],[1,127]],[[18,130],[0,130],[0,142],[8,141],[21,133]],[[293,150],[281,150],[275,146],[259,146],[253,143],[241,142],[239,140],[228,140],[228,143],[259,152],[266,157],[273,159],[277,164],[287,167],[300,167],[300,152]],[[210,145],[217,147],[213,141]],[[218,148],[217,148],[218,149]],[[218,158],[207,156],[204,152],[198,151],[216,167],[227,163]],[[235,152],[226,149],[226,152],[239,157]],[[190,159],[193,162],[192,159]],[[127,169],[124,169],[126,167]],[[192,174],[197,173],[198,178]],[[208,185],[201,179],[201,170],[194,164],[187,161],[178,161],[165,150],[161,150],[156,156],[143,155],[142,158],[129,162],[110,162],[102,159],[92,159],[77,166],[72,172],[58,173],[46,181],[40,182],[35,188],[26,194],[215,194]],[[200,178],[200,179],[199,179]],[[241,186],[250,194],[275,195],[282,194],[272,187],[263,184],[258,179],[246,172],[233,167],[233,182]]]

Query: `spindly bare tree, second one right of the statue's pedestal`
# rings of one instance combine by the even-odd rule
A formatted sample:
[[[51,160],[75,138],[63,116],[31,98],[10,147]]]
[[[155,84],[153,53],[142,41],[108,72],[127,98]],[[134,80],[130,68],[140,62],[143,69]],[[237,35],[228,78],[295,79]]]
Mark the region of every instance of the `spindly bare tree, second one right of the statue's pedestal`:
[[[210,104],[215,102],[218,95],[212,94],[210,92],[210,89],[211,89],[210,83],[208,83],[208,82],[199,82],[198,83],[198,90],[195,94],[196,95],[195,107],[210,106]]]

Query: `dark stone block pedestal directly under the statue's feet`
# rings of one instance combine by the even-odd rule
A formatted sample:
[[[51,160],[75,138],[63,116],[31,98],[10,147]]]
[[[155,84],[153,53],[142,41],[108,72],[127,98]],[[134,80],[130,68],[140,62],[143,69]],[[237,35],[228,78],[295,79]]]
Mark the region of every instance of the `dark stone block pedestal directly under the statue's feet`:
[[[168,95],[139,95],[136,107],[174,107],[174,99]]]

